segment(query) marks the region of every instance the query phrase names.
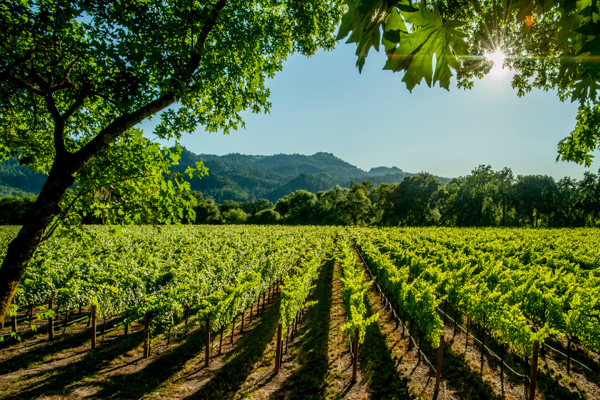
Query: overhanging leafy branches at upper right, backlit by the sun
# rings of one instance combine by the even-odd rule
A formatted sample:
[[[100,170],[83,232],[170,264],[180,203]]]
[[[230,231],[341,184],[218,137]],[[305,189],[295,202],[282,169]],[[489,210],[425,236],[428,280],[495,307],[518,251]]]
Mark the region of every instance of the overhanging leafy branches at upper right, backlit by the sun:
[[[559,143],[558,160],[589,166],[600,149],[600,4],[591,0],[347,0],[336,39],[356,43],[362,71],[369,50],[384,46],[384,69],[403,71],[412,91],[427,86],[470,89],[494,66],[514,71],[512,86],[556,90],[579,103],[576,128]]]

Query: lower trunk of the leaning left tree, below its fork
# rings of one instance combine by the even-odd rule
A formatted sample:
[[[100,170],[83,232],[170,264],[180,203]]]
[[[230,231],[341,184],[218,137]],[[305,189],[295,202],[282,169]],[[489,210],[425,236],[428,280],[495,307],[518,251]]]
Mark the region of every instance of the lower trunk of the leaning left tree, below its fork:
[[[31,215],[19,234],[11,241],[6,257],[0,267],[0,328],[4,327],[4,317],[11,304],[16,286],[21,280],[29,261],[39,246],[44,232],[56,214],[59,214],[59,202],[62,195],[72,184],[74,177],[54,165],[48,180],[34,204]]]

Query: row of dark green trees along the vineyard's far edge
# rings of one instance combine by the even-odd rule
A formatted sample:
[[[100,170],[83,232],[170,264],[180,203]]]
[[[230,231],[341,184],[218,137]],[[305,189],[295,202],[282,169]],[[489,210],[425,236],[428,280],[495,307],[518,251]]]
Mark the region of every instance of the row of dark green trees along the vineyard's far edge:
[[[352,182],[313,194],[297,190],[276,204],[266,199],[216,204],[193,193],[192,224],[315,224],[394,226],[599,226],[600,171],[577,181],[514,176],[481,165],[444,184],[427,173],[399,184]],[[22,224],[35,196],[0,199],[0,224]],[[85,220],[101,223],[99,220]]]

